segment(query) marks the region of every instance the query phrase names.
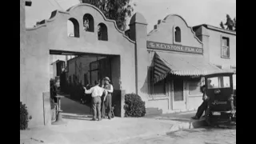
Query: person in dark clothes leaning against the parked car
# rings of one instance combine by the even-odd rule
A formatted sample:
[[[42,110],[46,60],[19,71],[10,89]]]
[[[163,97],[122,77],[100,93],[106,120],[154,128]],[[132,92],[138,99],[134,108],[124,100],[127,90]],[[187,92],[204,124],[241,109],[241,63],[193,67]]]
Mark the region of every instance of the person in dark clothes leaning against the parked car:
[[[205,112],[206,115],[206,110],[207,110],[207,106],[208,106],[208,97],[206,95],[206,85],[202,86],[200,88],[201,92],[202,92],[202,104],[201,106],[198,107],[198,111],[195,114],[194,117],[192,117],[192,119],[199,119],[202,116],[202,113]]]

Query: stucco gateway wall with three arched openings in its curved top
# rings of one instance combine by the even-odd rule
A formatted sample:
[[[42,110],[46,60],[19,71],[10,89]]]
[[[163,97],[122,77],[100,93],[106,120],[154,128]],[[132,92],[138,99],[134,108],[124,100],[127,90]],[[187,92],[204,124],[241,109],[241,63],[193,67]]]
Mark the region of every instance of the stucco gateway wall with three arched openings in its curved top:
[[[21,4],[21,6],[23,5]],[[25,15],[25,10],[22,8],[21,15]],[[145,25],[143,22],[138,22],[137,18],[138,15],[135,14],[134,19],[131,20],[130,27],[134,27],[130,31],[131,35],[144,34],[141,31],[142,27],[138,30],[137,25]],[[89,21],[89,27],[83,27],[84,20]],[[69,29],[69,24],[71,24],[71,29]],[[101,27],[99,33],[98,26]],[[138,47],[144,47],[145,50],[135,49],[136,38],[131,40],[126,37],[122,31],[118,30],[113,20],[105,18],[98,8],[86,3],[78,4],[66,11],[55,10],[50,19],[38,22],[38,26],[34,28],[22,30],[26,32],[21,32],[21,35],[24,36],[23,39],[21,38],[21,102],[26,103],[28,112],[33,118],[29,123],[30,126],[49,125],[51,122],[50,54],[103,55],[110,58],[107,63],[99,60],[100,66],[96,69],[94,69],[94,64],[97,63],[97,60],[90,62],[91,70],[87,74],[89,78],[86,79],[84,78],[86,74],[81,74],[79,80],[93,82],[94,79],[100,77],[111,78],[114,90],[119,91],[114,91],[114,94],[117,94],[117,104],[114,110],[117,110],[115,112],[118,113],[115,115],[124,116],[124,95],[138,92],[137,86],[142,85],[139,83],[142,82],[139,78],[145,80],[146,74],[142,74],[142,72],[146,71],[146,68],[144,69],[140,62],[142,58],[146,59],[146,56],[137,58],[135,61],[137,55],[134,54],[145,55],[146,47],[140,45],[142,43],[144,45],[146,42],[137,44]],[[146,26],[143,27],[143,30],[146,30]],[[104,71],[106,65],[110,65],[109,71]],[[140,67],[137,68],[137,65]],[[92,77],[88,76],[90,74]],[[98,78],[96,78],[97,75]],[[66,79],[73,80],[73,78]],[[38,84],[34,85],[34,81],[37,81]]]

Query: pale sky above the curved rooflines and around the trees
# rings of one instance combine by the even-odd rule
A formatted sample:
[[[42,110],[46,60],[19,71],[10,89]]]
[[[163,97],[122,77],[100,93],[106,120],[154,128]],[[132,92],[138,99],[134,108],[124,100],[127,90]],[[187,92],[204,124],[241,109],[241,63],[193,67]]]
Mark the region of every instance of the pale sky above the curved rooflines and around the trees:
[[[79,0],[31,0],[26,6],[26,27],[50,18],[54,10],[66,11],[77,5]],[[226,14],[236,17],[236,0],[132,0],[136,4],[134,12],[141,13],[148,23],[147,31],[153,30],[159,19],[168,14],[178,14],[189,26],[208,24],[219,27],[226,22]]]

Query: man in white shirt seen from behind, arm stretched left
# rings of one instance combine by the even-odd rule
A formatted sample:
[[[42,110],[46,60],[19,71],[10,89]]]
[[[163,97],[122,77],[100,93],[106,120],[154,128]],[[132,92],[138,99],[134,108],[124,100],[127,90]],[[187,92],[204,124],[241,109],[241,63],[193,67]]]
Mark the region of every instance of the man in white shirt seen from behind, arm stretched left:
[[[93,101],[93,116],[94,118],[92,121],[96,121],[96,117],[98,115],[98,121],[102,120],[101,118],[101,103],[102,103],[102,94],[104,93],[104,97],[106,97],[107,91],[104,90],[102,87],[98,86],[99,81],[95,81],[95,86],[90,88],[90,90],[86,90],[86,87],[83,87],[85,89],[86,94],[91,94],[92,101]]]

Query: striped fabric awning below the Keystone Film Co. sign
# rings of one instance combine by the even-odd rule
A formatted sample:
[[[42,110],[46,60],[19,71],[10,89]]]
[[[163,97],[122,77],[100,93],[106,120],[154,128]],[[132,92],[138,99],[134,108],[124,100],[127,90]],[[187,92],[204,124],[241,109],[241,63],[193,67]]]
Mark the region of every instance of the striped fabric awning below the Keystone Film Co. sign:
[[[202,55],[161,52],[154,54],[154,82],[166,78],[167,74],[200,76],[215,72],[222,70],[207,62]]]

